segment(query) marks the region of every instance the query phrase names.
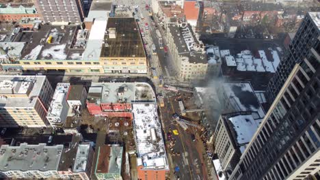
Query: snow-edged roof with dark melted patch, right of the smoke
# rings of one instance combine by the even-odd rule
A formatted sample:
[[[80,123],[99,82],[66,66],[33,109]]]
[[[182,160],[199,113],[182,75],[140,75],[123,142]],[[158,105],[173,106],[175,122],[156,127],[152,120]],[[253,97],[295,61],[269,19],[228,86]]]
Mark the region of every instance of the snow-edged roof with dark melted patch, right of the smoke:
[[[229,98],[235,112],[252,112],[254,119],[261,119],[265,117],[265,111],[258,102],[258,98],[256,97],[250,83],[228,82],[224,83],[223,87],[224,94]]]

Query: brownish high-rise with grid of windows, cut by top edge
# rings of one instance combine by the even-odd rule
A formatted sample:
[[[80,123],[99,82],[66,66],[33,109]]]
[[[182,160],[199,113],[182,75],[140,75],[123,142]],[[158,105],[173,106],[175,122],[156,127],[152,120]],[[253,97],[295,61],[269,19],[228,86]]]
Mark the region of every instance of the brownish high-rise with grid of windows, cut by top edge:
[[[85,16],[83,0],[34,0],[45,23],[81,23]]]

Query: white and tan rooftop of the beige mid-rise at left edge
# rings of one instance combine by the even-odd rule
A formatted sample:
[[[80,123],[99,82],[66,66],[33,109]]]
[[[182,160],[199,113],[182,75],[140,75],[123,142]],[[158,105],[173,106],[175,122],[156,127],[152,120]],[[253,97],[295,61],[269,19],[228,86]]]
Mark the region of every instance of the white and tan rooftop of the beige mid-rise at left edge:
[[[33,107],[46,76],[0,76],[1,107]],[[6,94],[18,95],[8,97]]]

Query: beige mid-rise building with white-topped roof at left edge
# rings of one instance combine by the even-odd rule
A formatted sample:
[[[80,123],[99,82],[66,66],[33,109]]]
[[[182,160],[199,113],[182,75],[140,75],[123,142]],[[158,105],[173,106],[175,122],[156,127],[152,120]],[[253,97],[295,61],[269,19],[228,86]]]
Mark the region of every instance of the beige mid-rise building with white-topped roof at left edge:
[[[0,76],[0,127],[45,127],[53,89],[46,76]]]

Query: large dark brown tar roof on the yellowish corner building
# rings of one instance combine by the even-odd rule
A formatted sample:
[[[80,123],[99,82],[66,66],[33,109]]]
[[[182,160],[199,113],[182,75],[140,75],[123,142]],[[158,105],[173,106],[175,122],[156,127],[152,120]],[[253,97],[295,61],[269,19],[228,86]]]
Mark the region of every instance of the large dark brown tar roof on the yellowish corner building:
[[[135,18],[109,18],[109,28],[116,28],[116,38],[105,36],[101,57],[146,57]]]

